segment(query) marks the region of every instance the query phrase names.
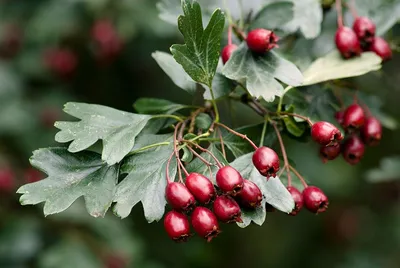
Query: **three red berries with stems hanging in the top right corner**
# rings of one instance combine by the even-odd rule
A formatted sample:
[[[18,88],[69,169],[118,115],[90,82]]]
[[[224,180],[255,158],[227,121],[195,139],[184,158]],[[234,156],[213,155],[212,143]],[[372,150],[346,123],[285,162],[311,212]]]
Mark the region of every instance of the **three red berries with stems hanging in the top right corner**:
[[[359,17],[354,6],[350,6],[354,16],[353,28],[343,26],[340,1],[337,1],[338,30],[335,34],[336,47],[346,59],[358,56],[363,51],[373,51],[383,61],[392,57],[389,44],[382,37],[375,36],[376,25],[367,17]]]

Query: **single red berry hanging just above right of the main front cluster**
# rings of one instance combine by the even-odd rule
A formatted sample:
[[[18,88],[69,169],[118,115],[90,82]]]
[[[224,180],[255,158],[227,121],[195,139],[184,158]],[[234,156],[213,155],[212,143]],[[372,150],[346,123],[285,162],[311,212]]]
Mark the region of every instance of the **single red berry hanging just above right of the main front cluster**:
[[[279,170],[279,157],[271,148],[262,146],[254,152],[253,164],[261,175],[275,177]]]

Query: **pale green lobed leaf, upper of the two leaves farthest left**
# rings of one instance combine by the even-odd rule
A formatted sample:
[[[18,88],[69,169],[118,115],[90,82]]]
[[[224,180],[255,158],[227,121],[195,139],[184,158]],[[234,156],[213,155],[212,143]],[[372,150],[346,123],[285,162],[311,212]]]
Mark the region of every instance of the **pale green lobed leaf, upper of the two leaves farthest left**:
[[[56,122],[55,126],[60,129],[56,134],[56,141],[72,141],[68,151],[75,153],[102,139],[102,159],[109,165],[118,163],[129,153],[135,144],[135,137],[151,118],[149,115],[77,102],[65,104],[64,111],[81,121]]]

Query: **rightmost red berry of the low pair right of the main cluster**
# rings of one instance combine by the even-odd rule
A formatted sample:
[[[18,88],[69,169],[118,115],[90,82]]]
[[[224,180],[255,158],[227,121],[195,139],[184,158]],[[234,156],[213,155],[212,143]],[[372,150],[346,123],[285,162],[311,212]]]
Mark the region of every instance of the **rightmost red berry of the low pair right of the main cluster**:
[[[322,213],[328,208],[328,197],[321,189],[315,186],[308,186],[303,190],[304,206],[312,213]]]

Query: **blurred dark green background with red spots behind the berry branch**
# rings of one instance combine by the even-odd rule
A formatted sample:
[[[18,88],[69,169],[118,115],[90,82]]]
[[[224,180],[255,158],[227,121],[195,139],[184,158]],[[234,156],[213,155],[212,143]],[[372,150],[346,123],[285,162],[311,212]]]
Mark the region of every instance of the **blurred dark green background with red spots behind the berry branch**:
[[[394,26],[387,34],[394,44],[399,30]],[[328,32],[323,28],[325,37]],[[343,159],[322,164],[315,145],[285,136],[299,171],[328,194],[328,211],[268,213],[262,227],[224,225],[209,244],[198,237],[173,243],[162,222],[145,221],[140,205],[120,220],[112,213],[91,218],[80,202],[46,218],[40,205],[19,204],[16,189],[44,176],[28,159],[32,150],[56,145],[52,125],[65,118],[65,102],[127,111],[139,97],[193,102],[151,58],[179,42],[177,29],[159,19],[154,0],[0,0],[0,267],[400,267],[400,172],[386,182],[366,180],[383,158],[400,155],[398,129],[385,129],[381,144],[368,148],[357,166]],[[318,42],[314,49],[322,49],[305,61],[324,54],[333,39]],[[400,118],[398,54],[382,70],[351,82]],[[229,123],[236,118],[234,127],[261,121],[240,104],[233,114],[228,106],[221,105],[222,116]]]

